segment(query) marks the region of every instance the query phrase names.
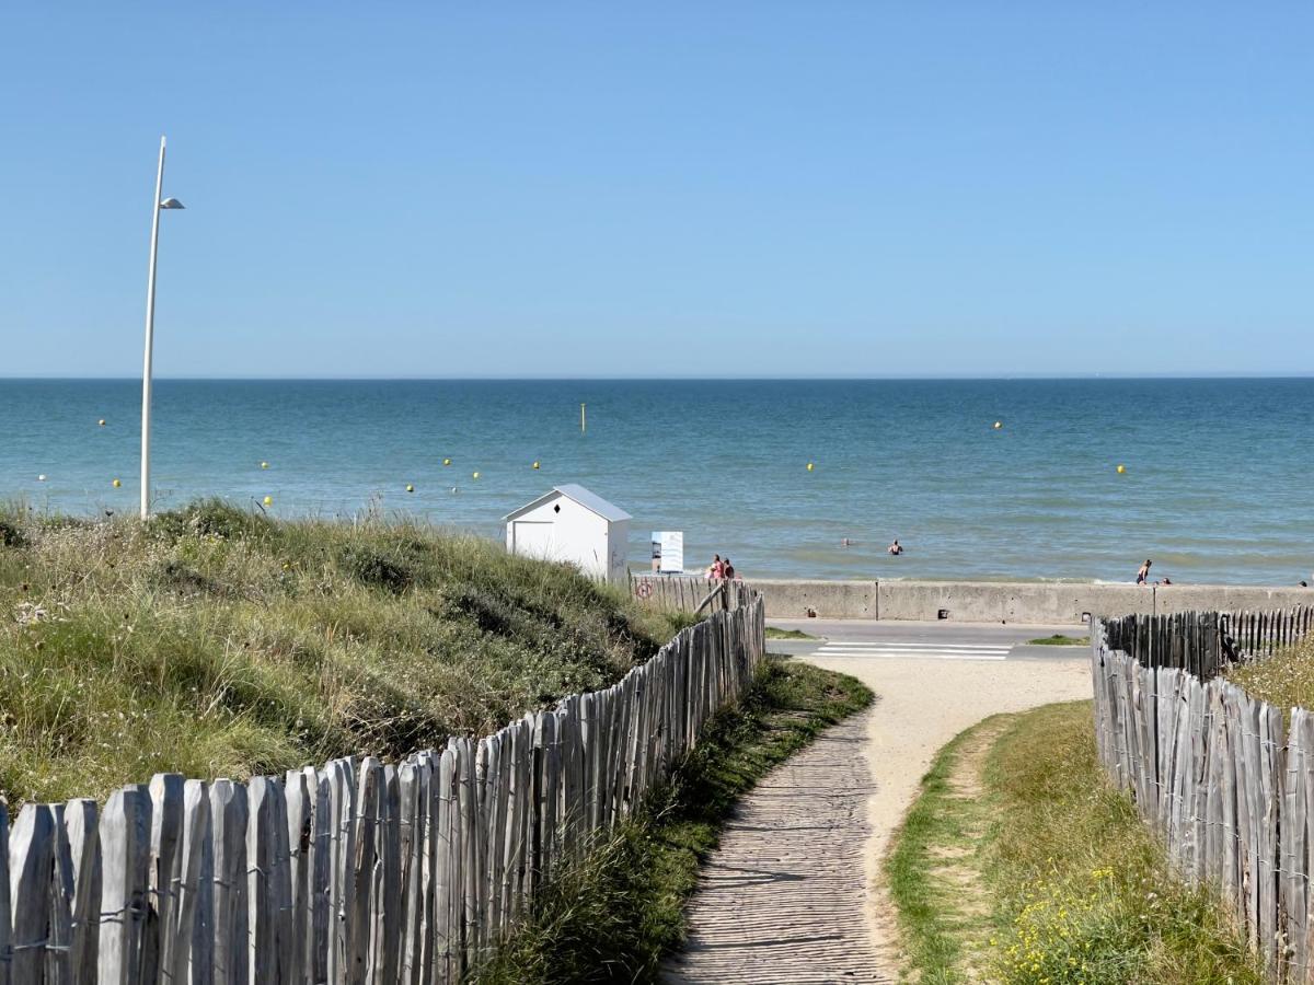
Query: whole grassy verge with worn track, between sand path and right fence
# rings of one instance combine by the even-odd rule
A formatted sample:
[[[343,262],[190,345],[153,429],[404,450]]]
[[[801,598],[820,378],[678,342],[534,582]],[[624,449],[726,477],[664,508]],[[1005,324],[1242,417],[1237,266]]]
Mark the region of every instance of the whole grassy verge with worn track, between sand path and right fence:
[[[886,871],[924,982],[1264,981],[1225,910],[1173,877],[1106,783],[1087,701],[997,716],[955,738]]]

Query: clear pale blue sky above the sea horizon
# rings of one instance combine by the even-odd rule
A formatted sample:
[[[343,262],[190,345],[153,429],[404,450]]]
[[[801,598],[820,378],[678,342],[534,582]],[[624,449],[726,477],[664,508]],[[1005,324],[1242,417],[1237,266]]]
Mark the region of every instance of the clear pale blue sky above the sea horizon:
[[[11,3],[0,376],[1314,372],[1314,4]]]

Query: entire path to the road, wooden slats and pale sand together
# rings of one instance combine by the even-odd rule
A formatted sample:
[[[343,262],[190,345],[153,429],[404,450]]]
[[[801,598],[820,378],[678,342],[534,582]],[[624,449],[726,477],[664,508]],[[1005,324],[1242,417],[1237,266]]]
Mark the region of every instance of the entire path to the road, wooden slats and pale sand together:
[[[1000,712],[1091,696],[1071,659],[804,658],[876,692],[744,799],[703,869],[671,982],[899,978],[880,860],[936,751]]]

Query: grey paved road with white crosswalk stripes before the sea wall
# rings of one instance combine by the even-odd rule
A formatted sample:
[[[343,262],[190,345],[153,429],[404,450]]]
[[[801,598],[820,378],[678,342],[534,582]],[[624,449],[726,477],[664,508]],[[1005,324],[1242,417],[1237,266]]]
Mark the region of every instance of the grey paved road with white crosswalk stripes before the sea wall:
[[[807,658],[901,658],[941,661],[1045,661],[1085,654],[1077,646],[1028,646],[1028,640],[1062,633],[1084,637],[1085,626],[1005,626],[993,623],[905,623],[829,619],[770,619],[816,640],[769,640],[771,653]]]

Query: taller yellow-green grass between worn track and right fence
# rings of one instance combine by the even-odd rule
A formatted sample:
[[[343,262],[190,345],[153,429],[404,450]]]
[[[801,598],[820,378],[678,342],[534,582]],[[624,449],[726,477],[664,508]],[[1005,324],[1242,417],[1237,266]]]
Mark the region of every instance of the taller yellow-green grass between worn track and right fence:
[[[1264,981],[1226,909],[1175,877],[1163,843],[1109,784],[1088,701],[1020,716],[986,779],[1001,816],[986,867],[1000,981]]]

